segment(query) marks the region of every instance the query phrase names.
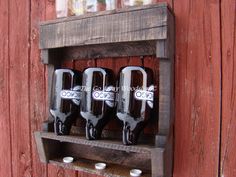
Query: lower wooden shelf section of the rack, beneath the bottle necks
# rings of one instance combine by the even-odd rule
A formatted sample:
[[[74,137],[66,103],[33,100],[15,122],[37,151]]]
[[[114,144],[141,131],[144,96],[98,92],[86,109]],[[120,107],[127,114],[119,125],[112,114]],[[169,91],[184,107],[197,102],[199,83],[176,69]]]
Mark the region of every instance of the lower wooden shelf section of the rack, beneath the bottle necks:
[[[97,174],[106,177],[129,177],[132,168],[139,168],[142,177],[170,177],[171,144],[165,148],[153,145],[125,146],[116,140],[89,141],[80,136],[56,136],[49,132],[35,132],[35,140],[41,162],[63,168]],[[63,163],[63,157],[72,156],[75,161]],[[105,162],[105,170],[96,170],[95,163]]]

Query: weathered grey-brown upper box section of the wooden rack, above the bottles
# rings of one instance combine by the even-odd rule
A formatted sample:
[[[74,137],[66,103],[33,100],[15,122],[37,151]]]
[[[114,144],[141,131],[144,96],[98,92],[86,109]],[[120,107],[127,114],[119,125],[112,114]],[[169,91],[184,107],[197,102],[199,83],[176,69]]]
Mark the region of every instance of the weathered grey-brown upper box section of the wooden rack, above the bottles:
[[[169,23],[166,4],[99,12],[41,23],[42,60],[63,53],[63,59],[155,55],[169,56]],[[102,45],[101,45],[102,44]],[[49,50],[45,55],[45,50]],[[60,56],[60,55],[59,55]]]

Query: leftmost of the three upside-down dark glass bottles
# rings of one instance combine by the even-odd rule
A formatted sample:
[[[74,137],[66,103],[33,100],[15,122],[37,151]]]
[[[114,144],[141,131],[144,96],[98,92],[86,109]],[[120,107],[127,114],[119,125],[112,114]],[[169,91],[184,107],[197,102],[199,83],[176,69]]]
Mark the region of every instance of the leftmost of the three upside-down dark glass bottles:
[[[78,116],[81,74],[69,69],[54,72],[51,90],[50,113],[54,117],[54,132],[68,135]]]

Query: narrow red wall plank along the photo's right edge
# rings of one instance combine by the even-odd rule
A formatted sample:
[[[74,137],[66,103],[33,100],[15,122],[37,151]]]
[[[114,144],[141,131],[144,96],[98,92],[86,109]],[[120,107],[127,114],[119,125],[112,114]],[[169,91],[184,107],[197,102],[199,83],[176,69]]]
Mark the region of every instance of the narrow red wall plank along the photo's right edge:
[[[220,177],[236,176],[236,1],[221,3],[222,134]]]

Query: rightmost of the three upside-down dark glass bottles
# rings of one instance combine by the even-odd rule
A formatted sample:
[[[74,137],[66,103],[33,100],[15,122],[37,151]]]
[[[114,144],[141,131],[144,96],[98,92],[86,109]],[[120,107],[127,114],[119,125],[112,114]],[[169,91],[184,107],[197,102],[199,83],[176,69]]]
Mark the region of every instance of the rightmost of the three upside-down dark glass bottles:
[[[123,121],[123,143],[136,144],[153,108],[152,72],[125,67],[120,71],[117,117]]]

